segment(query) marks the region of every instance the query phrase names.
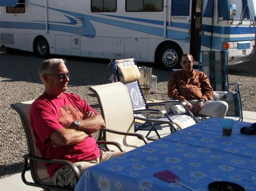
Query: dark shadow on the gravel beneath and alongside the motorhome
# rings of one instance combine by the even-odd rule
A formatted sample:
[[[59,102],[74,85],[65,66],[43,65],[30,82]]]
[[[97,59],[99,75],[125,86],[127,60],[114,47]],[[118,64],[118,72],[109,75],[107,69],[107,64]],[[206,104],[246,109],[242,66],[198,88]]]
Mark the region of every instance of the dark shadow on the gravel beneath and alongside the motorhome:
[[[63,58],[67,61],[70,71],[70,86],[107,84],[113,70],[107,67],[109,59],[93,59],[75,56],[50,55],[49,58]],[[35,56],[34,53],[8,49],[7,54],[0,54],[0,77],[8,78],[3,82],[25,81],[41,84],[37,71],[42,61],[46,59]],[[153,64],[138,63],[138,66],[153,67],[152,74],[157,81],[167,81],[168,72]],[[154,68],[155,67],[155,68]]]

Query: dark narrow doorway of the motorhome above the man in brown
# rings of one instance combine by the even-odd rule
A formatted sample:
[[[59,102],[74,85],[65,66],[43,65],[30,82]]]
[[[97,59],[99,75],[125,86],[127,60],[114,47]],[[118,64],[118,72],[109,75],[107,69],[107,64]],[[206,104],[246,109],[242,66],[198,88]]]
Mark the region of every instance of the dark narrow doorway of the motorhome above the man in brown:
[[[202,0],[192,0],[191,29],[190,29],[190,54],[198,61],[201,49],[201,23],[202,23]]]

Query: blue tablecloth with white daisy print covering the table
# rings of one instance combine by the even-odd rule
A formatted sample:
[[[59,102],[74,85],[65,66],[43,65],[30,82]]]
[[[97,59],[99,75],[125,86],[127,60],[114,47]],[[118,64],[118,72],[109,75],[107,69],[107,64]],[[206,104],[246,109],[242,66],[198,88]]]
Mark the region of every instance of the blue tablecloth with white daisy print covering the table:
[[[195,191],[219,180],[256,191],[256,135],[239,132],[249,125],[234,121],[232,136],[223,136],[221,119],[209,118],[87,169],[75,191],[188,191],[153,176],[162,170]]]

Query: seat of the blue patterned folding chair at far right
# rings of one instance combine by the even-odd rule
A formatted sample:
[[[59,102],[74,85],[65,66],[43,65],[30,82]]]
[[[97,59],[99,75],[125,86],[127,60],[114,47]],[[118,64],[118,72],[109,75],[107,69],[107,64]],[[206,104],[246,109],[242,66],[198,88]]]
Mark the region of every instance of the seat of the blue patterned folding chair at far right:
[[[241,117],[241,110],[239,107],[239,98],[237,92],[214,91],[213,98],[214,101],[227,102],[229,108],[226,116]]]

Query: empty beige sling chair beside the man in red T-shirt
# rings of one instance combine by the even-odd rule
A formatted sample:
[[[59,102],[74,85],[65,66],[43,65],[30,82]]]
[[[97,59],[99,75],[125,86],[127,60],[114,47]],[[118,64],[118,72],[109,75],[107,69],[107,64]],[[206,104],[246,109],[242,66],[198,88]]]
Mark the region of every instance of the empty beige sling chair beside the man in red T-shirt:
[[[120,143],[126,151],[138,148],[149,141],[143,135],[135,133],[134,120],[152,122],[145,117],[134,117],[128,88],[121,82],[97,85],[89,88],[98,99],[105,128],[101,129],[106,141]],[[160,123],[165,123],[159,120]],[[170,124],[170,123],[169,123]],[[108,149],[113,150],[111,146]]]

